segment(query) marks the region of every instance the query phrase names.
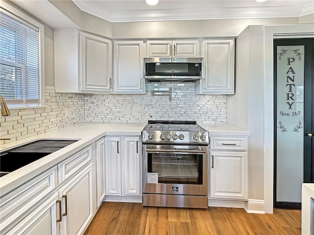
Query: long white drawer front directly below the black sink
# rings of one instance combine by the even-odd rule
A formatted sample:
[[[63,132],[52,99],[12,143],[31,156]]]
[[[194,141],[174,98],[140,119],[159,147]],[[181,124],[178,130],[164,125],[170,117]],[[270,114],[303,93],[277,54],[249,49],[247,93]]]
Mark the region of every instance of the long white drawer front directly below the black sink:
[[[38,201],[52,192],[57,185],[57,166],[54,166],[21,187],[1,196],[0,228],[8,224],[7,220],[10,220],[13,213],[14,217],[26,216],[27,212],[30,212]]]

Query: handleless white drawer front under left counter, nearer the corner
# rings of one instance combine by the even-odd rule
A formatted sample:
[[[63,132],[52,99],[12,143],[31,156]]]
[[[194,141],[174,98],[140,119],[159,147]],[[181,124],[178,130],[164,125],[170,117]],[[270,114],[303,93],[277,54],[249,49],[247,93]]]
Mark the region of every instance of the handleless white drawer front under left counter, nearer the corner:
[[[77,154],[69,157],[63,162],[58,164],[58,180],[59,185],[69,179],[71,176],[76,175],[80,169],[92,161],[91,146],[79,151]]]

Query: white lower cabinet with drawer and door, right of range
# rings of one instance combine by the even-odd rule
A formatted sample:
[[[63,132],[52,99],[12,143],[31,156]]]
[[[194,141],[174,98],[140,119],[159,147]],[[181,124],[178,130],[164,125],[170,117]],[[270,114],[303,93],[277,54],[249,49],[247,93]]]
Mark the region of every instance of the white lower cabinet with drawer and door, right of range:
[[[247,136],[211,136],[209,198],[247,200]]]

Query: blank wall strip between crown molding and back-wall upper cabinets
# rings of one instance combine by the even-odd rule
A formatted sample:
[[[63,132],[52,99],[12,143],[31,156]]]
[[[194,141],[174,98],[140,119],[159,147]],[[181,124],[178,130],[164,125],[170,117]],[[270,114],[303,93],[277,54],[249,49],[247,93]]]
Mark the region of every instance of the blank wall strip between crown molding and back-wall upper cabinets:
[[[298,24],[298,18],[112,23],[112,38],[235,37],[255,24]]]

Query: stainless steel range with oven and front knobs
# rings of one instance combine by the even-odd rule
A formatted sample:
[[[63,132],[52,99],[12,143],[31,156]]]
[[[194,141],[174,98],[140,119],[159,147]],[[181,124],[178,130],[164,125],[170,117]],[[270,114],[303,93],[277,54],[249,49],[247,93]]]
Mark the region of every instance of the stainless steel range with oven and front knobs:
[[[143,206],[208,208],[208,131],[196,121],[149,121],[142,144]]]

